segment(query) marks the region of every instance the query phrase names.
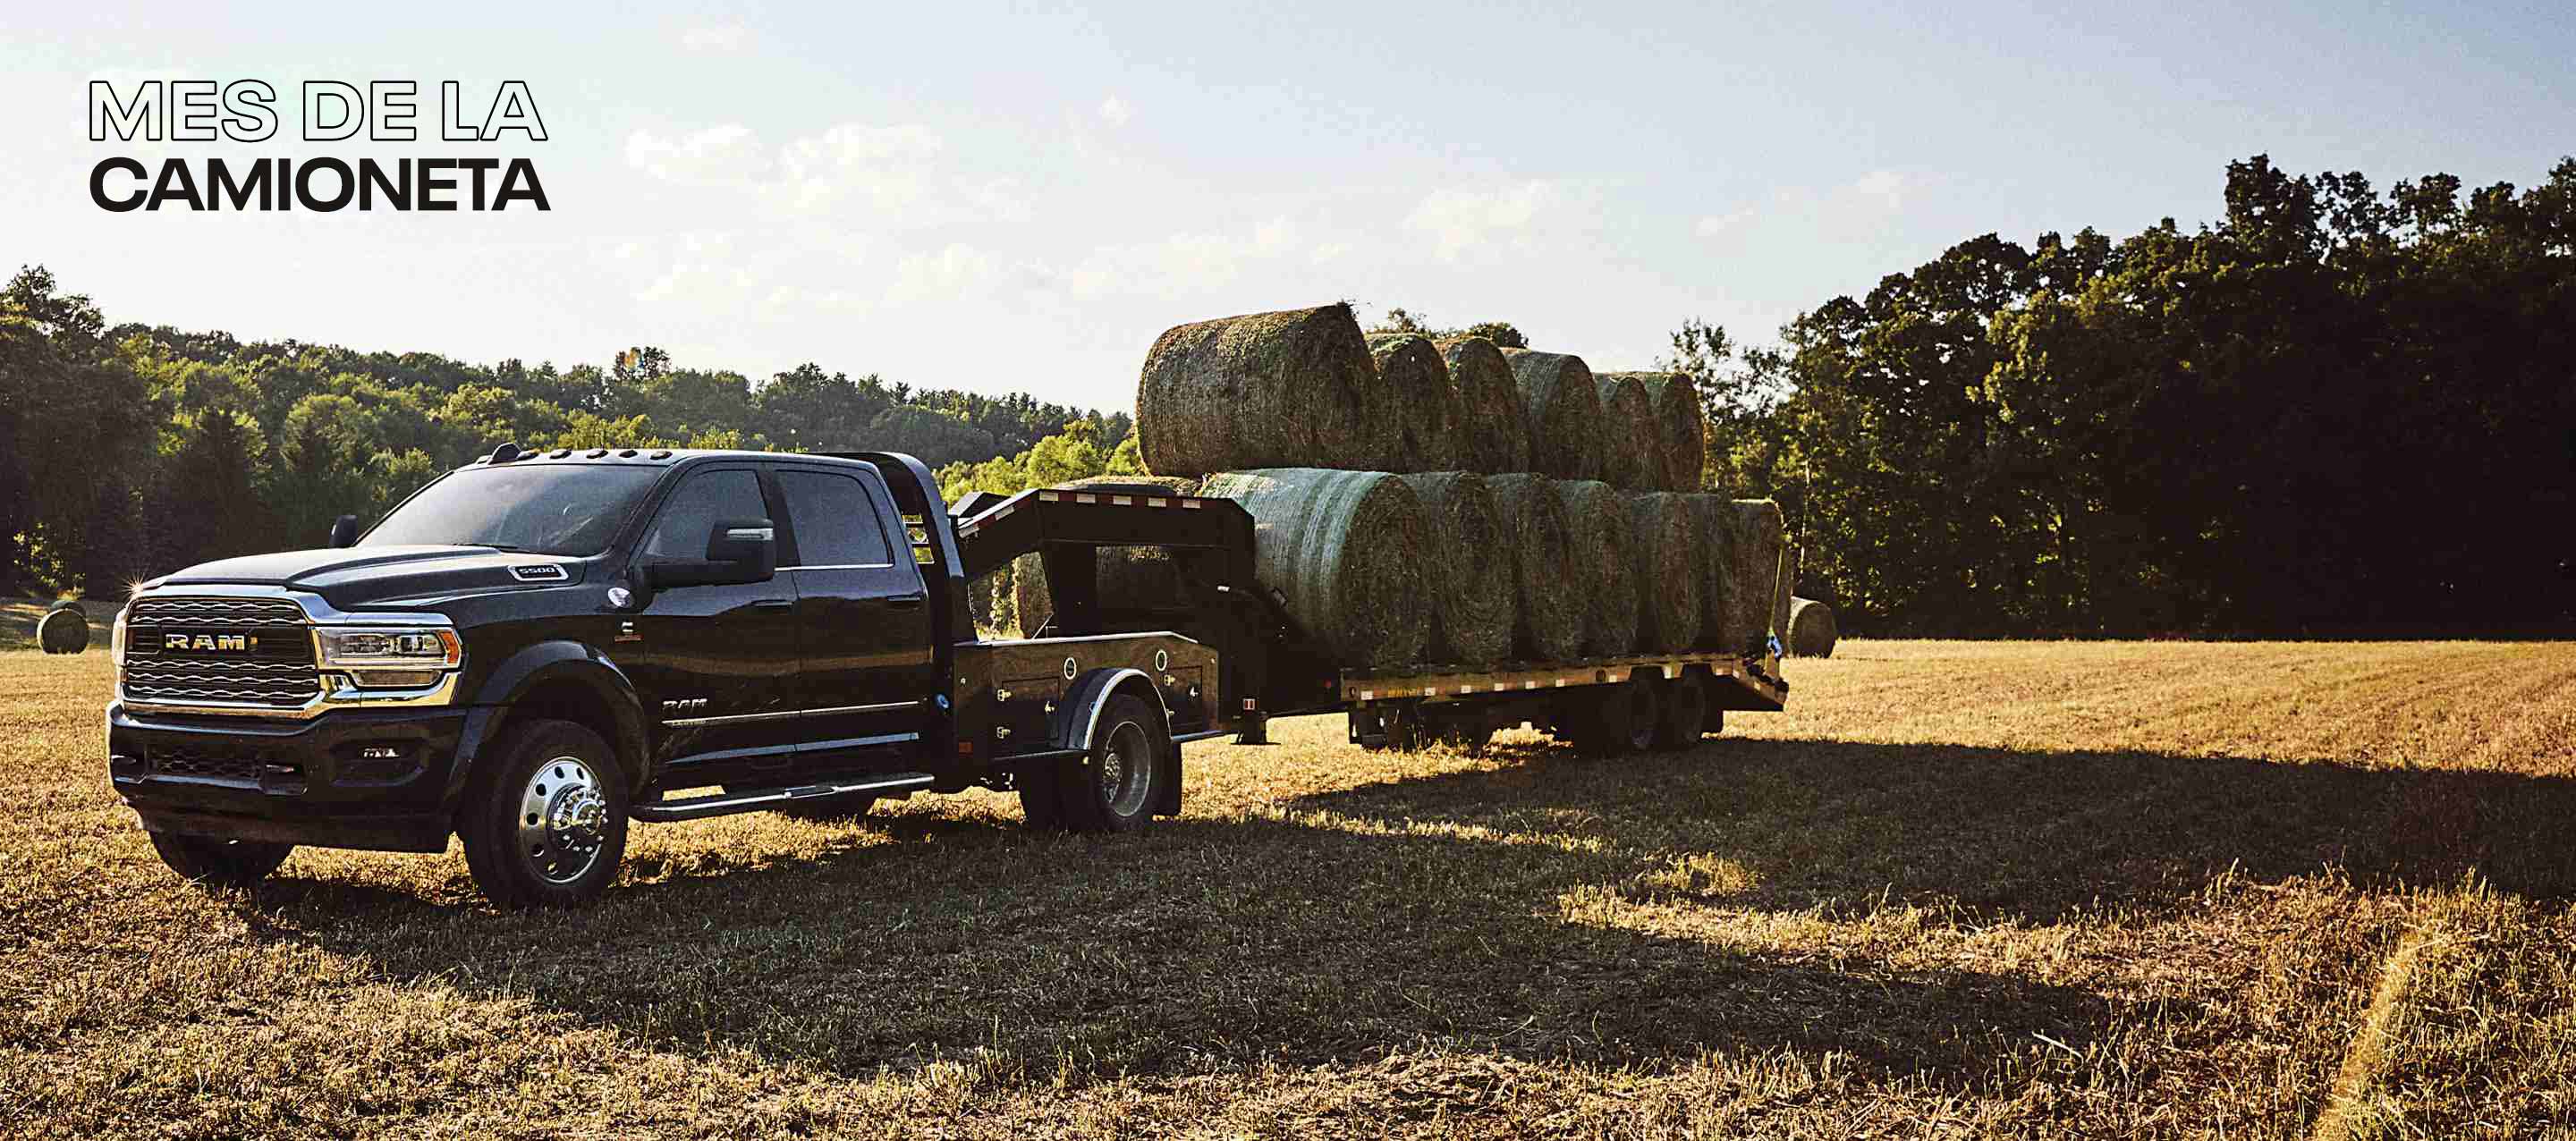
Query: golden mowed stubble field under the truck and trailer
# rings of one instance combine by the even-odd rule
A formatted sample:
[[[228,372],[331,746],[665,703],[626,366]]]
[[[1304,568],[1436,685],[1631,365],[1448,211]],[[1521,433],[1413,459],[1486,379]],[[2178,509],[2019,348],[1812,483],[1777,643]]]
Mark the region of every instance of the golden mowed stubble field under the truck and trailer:
[[[1002,796],[160,868],[0,654],[10,1136],[2576,1136],[2576,644],[1844,641],[1592,762],[1188,747]]]

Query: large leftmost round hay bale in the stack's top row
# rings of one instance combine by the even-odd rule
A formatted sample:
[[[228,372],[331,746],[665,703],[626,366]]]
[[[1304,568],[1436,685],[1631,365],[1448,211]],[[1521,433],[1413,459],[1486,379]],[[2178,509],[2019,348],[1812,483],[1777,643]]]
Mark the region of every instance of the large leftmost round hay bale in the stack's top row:
[[[1401,425],[1347,304],[1164,330],[1136,381],[1136,448],[1172,476],[1283,464],[1383,464]]]

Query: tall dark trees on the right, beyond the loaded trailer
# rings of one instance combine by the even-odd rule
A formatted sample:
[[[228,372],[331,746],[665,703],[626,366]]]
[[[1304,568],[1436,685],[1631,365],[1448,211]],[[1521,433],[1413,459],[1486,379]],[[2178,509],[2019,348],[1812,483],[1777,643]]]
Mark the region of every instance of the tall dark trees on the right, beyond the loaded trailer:
[[[2576,618],[2576,160],[2463,193],[2251,157],[2213,224],[1973,237],[1780,340],[1685,325],[1669,363],[1844,628]]]

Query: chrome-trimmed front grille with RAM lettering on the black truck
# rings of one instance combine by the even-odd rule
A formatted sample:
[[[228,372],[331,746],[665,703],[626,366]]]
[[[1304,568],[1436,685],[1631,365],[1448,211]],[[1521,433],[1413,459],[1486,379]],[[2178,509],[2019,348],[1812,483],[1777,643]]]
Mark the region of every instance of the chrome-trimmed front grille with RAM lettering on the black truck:
[[[216,649],[232,636],[240,644]],[[319,693],[312,628],[286,598],[137,598],[126,608],[129,701],[283,711]]]

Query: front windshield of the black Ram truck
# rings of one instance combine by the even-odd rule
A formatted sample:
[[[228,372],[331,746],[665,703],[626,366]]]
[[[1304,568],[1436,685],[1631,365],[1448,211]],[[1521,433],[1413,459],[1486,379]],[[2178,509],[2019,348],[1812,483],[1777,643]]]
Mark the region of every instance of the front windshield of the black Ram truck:
[[[600,554],[662,471],[626,464],[451,471],[394,507],[358,546],[451,543]]]

